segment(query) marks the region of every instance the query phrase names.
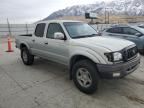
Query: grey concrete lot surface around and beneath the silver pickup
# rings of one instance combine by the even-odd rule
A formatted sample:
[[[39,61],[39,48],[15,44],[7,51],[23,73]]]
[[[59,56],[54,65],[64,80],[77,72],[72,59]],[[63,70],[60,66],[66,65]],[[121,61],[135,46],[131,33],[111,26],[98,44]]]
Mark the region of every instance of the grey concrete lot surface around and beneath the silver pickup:
[[[65,67],[39,58],[25,66],[18,49],[6,49],[0,41],[0,108],[144,108],[143,56],[137,71],[124,79],[101,80],[95,94],[85,95]]]

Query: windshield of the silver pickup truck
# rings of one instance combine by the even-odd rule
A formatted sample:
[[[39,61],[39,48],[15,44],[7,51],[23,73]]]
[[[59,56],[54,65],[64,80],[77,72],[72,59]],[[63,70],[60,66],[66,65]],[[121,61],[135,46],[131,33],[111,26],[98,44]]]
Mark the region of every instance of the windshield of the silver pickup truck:
[[[93,37],[97,35],[97,32],[86,23],[64,22],[64,26],[71,38]]]

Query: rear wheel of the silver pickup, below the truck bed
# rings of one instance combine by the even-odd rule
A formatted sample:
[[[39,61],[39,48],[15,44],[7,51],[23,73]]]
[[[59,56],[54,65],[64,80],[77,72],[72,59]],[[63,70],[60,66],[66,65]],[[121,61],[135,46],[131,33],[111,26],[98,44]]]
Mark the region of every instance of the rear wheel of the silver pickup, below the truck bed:
[[[21,58],[25,65],[32,65],[34,62],[34,56],[30,54],[26,47],[21,49]]]

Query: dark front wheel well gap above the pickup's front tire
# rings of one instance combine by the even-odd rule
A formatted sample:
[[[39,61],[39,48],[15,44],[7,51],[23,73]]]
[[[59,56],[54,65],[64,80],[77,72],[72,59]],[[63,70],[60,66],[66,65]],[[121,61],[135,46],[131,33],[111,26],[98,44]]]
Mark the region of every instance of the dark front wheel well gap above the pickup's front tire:
[[[84,59],[87,59],[87,60],[90,60],[92,61],[90,58],[86,57],[86,56],[82,56],[82,55],[76,55],[74,57],[71,58],[71,61],[70,61],[70,79],[72,79],[72,68],[73,68],[73,65],[80,61],[80,60],[84,60]],[[93,62],[93,61],[92,61]]]

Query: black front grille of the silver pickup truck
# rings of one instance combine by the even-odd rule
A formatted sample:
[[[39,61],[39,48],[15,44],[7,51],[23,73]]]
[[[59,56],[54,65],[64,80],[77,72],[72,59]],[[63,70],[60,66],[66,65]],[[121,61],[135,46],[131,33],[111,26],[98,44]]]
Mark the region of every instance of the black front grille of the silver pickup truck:
[[[135,57],[135,55],[137,53],[138,53],[138,49],[136,46],[129,48],[129,49],[126,49],[123,53],[124,61],[128,61],[128,60],[132,59],[133,57]]]

